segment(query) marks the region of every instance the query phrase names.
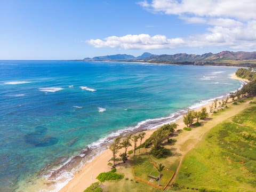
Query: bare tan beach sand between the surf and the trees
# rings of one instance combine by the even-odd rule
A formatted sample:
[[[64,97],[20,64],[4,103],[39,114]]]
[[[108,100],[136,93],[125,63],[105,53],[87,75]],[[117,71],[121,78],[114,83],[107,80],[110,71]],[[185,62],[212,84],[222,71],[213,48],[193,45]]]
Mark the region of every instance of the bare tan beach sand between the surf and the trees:
[[[237,79],[238,81],[243,82],[249,82],[246,79],[238,78],[235,74],[230,75],[230,78]],[[206,107],[207,110],[209,110],[210,103],[207,103],[204,106],[201,106],[196,111],[201,110],[202,107]],[[208,111],[209,112],[209,111]],[[183,129],[185,127],[185,124],[183,123],[182,117],[177,119],[174,123],[178,124],[178,129]],[[153,130],[146,130],[143,131],[146,133],[145,138],[142,140],[145,141],[150,137],[150,135],[155,131]],[[206,132],[206,131],[205,131]],[[189,137],[196,137],[196,132],[190,132]],[[182,139],[183,140],[183,139]],[[193,147],[192,147],[193,148]],[[128,148],[128,150],[131,150],[132,147]],[[189,149],[190,150],[190,149]],[[122,150],[120,150],[122,152]],[[60,191],[61,192],[68,192],[68,191],[84,191],[87,187],[89,187],[92,183],[97,182],[98,180],[96,177],[101,172],[107,172],[110,171],[110,166],[107,165],[109,159],[111,158],[112,153],[109,149],[103,151],[101,154],[97,155],[92,162],[85,163],[80,170],[74,173],[74,178],[70,180],[65,187],[63,187]]]

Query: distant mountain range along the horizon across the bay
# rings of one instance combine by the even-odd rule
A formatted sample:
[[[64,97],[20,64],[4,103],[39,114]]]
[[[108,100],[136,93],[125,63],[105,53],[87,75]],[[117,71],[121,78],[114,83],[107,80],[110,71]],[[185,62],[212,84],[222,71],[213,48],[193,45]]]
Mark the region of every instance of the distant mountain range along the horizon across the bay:
[[[178,65],[220,65],[220,66],[256,66],[256,52],[245,51],[222,51],[219,53],[197,54],[151,54],[143,53],[138,57],[128,54],[106,55],[93,58],[84,58],[84,61],[132,61],[132,62],[149,62],[149,63],[166,63]]]

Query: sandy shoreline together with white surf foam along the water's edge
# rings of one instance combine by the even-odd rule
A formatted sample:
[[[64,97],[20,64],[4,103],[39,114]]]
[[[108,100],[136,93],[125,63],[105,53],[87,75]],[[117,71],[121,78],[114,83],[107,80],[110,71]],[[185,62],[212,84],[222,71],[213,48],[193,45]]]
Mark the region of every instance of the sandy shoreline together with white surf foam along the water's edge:
[[[242,78],[238,78],[236,77],[235,74],[231,74],[229,76],[232,79],[236,79],[238,81],[241,81],[241,87],[244,85],[243,82],[247,82],[245,81],[245,79]],[[225,98],[227,97],[227,95],[222,95],[221,97],[218,98]],[[209,106],[211,105],[213,99],[208,99],[208,100],[204,100],[201,102],[197,102],[194,103],[193,105],[187,107],[186,109],[192,109],[192,110],[201,110],[202,107],[207,107],[207,109],[209,108]],[[171,114],[169,117],[162,117],[163,119],[165,118],[172,118],[171,121],[169,123],[177,123],[179,126],[177,127],[178,129],[183,129],[183,127],[185,126],[183,121],[182,121],[182,117],[183,115],[186,113],[186,110],[180,110],[176,113]],[[161,119],[161,118],[158,118]],[[147,119],[147,121],[151,121],[154,119]],[[144,121],[146,122],[146,121]],[[141,123],[141,122],[140,122]],[[139,123],[139,124],[140,124]],[[162,124],[166,124],[168,122],[164,122],[164,123],[159,123],[158,125],[155,125],[153,127],[151,127],[151,129],[147,129],[147,124],[144,127],[139,127],[138,129],[138,125],[137,124],[137,129],[136,127],[133,127],[133,129],[125,129],[125,130],[121,130],[122,131],[122,135],[127,135],[127,134],[135,134],[138,132],[145,132],[145,138],[142,140],[146,140],[147,138],[150,137],[150,135],[156,130],[158,129],[158,127],[162,126]],[[146,130],[145,130],[146,129]],[[110,139],[110,141],[112,139],[114,139],[117,134],[119,135],[121,132],[115,132],[113,135],[109,135],[109,137],[107,138],[103,138],[103,139]],[[77,166],[72,167],[70,164],[68,167],[73,168],[69,169],[69,170],[65,170],[65,169],[61,169],[62,167],[65,168],[65,166],[67,164],[69,164],[69,162],[66,162],[64,165],[62,165],[58,169],[55,170],[57,171],[57,174],[55,174],[52,179],[46,179],[46,182],[44,181],[44,184],[46,185],[51,185],[51,189],[53,191],[83,191],[85,190],[87,187],[89,187],[93,182],[97,182],[98,180],[96,179],[96,177],[98,176],[99,173],[101,172],[106,172],[110,170],[110,166],[107,165],[107,163],[109,162],[109,159],[111,158],[111,151],[107,148],[107,146],[109,145],[110,141],[107,140],[108,142],[103,142],[102,145],[98,148],[94,146],[94,148],[85,148],[85,150],[82,151],[81,154],[75,156],[75,157],[71,157],[69,160],[71,160],[70,162],[72,162],[72,160],[78,156],[81,157],[81,162],[76,163]],[[98,142],[98,141],[97,141]],[[87,149],[87,150],[86,150]],[[131,150],[132,147],[129,148],[129,150]],[[95,150],[97,150],[95,152]],[[92,153],[90,153],[92,152]],[[87,154],[89,155],[89,158],[84,158],[83,155],[86,156]],[[79,157],[78,157],[79,158]],[[73,164],[74,165],[74,164]],[[76,169],[74,171],[74,169]],[[62,178],[59,179],[59,177],[61,178],[61,174],[63,173],[62,171],[64,170],[65,173],[69,173],[69,179],[67,178]],[[55,172],[54,171],[54,172]],[[59,174],[58,174],[59,173]],[[50,176],[51,177],[51,176]],[[49,177],[48,177],[49,178]],[[61,183],[59,183],[58,181],[54,182],[55,179],[57,179],[58,181],[61,181]],[[65,180],[66,179],[66,180]],[[84,182],[86,181],[86,183]],[[49,186],[48,186],[49,187]]]

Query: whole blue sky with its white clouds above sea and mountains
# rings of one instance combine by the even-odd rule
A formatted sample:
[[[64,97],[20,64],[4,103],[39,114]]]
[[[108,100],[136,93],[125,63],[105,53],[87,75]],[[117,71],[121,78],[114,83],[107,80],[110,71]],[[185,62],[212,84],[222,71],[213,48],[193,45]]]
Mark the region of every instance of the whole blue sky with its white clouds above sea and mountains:
[[[0,0],[0,59],[254,51],[255,10],[254,0]]]

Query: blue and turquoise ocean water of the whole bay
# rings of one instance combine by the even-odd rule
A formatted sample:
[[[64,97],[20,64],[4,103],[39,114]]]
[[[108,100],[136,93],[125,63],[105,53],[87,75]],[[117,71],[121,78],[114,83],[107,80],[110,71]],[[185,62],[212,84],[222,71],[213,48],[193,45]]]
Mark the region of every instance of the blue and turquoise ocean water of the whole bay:
[[[17,189],[21,181],[33,185],[31,178],[50,175],[88,145],[98,152],[118,130],[151,128],[161,117],[169,121],[177,111],[235,91],[241,83],[229,75],[236,70],[0,61],[0,190]]]

